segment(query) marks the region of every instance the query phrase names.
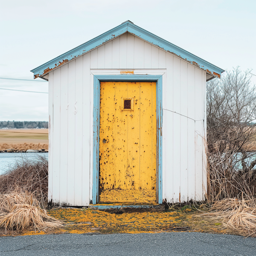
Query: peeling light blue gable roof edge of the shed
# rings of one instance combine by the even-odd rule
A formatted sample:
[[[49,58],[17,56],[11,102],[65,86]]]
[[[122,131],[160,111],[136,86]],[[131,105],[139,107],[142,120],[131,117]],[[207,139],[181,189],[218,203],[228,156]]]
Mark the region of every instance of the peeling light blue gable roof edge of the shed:
[[[172,44],[163,38],[158,37],[157,35],[154,35],[150,32],[148,32],[145,29],[140,28],[137,25],[134,25],[131,21],[127,20],[124,23],[122,23],[119,26],[116,26],[115,28],[108,30],[107,32],[103,33],[102,35],[97,36],[96,38],[91,39],[90,41],[87,41],[84,44],[79,45],[76,48],[71,49],[68,52],[65,52],[64,54],[52,59],[51,61],[48,61],[45,64],[42,64],[39,67],[34,68],[31,70],[31,72],[34,73],[34,79],[47,75],[50,71],[54,70],[55,68],[61,66],[62,64],[67,63],[68,61],[71,61],[74,58],[79,57],[80,55],[83,55],[86,52],[89,52],[90,50],[105,44],[106,42],[112,40],[113,38],[118,37],[119,35],[122,35],[126,32],[129,32],[163,50],[166,50],[167,52],[172,53],[173,55],[188,61],[189,63],[195,65],[196,67],[206,71],[210,76],[210,80],[214,77],[221,77],[221,73],[223,73],[225,70],[209,63],[208,61],[203,60],[202,58],[199,58],[198,56],[187,52],[186,50],[177,47],[175,44]]]

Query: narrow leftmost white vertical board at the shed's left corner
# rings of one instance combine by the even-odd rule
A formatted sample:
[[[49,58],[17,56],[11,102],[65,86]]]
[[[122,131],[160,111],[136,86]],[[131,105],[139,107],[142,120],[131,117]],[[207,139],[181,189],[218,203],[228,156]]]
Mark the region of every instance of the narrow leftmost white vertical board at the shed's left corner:
[[[48,170],[48,201],[52,201],[52,174],[53,174],[53,152],[52,152],[52,139],[53,139],[53,72],[49,73],[49,170]]]

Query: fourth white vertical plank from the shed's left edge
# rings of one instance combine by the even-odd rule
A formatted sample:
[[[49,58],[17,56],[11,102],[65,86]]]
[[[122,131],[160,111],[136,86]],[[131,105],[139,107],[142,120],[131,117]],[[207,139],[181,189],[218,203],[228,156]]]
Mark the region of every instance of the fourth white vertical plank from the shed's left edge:
[[[68,63],[68,142],[67,142],[67,201],[74,205],[75,190],[75,85],[76,85],[76,61]]]

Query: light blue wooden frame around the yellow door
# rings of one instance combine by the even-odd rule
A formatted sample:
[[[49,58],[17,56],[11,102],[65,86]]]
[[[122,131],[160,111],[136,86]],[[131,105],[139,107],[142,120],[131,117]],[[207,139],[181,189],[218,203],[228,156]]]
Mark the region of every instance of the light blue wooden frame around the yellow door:
[[[162,180],[162,76],[159,75],[96,75],[93,77],[93,204],[99,202],[99,109],[101,81],[156,81],[157,83],[157,201],[163,203]]]

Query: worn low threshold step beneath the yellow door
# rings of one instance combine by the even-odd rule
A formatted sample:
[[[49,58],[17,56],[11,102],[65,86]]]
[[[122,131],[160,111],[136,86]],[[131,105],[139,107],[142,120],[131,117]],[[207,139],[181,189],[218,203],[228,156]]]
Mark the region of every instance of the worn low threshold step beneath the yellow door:
[[[164,204],[90,204],[90,209],[113,212],[113,213],[123,213],[123,212],[163,212],[165,210]]]

